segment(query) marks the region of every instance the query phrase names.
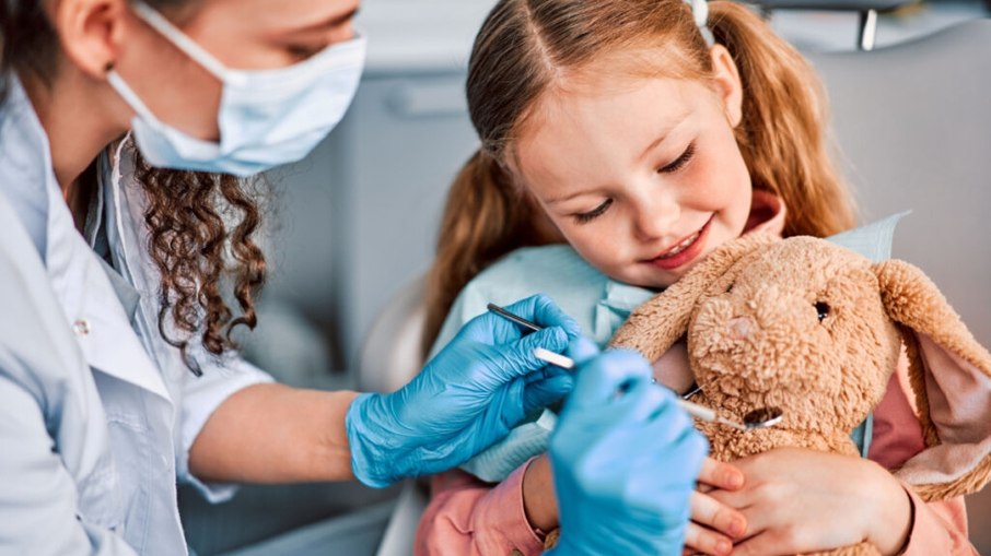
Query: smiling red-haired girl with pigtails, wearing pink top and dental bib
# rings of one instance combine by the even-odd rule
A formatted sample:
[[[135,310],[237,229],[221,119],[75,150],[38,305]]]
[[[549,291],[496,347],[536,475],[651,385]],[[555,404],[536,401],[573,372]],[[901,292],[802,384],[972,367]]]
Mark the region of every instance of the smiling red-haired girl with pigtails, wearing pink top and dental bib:
[[[745,8],[709,9],[707,17],[704,3],[681,0],[497,4],[471,55],[481,149],[448,199],[428,281],[428,342],[455,295],[521,247],[570,246],[488,268],[445,330],[532,289],[605,342],[632,307],[730,239],[851,227],[807,62]],[[684,347],[655,369],[676,390],[691,383]],[[902,385],[893,379],[875,412],[867,459],[776,450],[710,462],[688,548],[796,554],[868,540],[883,554],[972,554],[963,499],[925,504],[887,471],[923,446]],[[558,525],[550,473],[539,457],[495,486],[459,472],[435,478],[418,553],[539,553]]]

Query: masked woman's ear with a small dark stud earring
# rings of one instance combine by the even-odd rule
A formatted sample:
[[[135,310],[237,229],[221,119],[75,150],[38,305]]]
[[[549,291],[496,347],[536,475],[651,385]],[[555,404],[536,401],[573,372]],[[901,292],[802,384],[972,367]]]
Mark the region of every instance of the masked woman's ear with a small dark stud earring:
[[[120,55],[127,0],[46,2],[65,56],[83,73],[103,79]]]

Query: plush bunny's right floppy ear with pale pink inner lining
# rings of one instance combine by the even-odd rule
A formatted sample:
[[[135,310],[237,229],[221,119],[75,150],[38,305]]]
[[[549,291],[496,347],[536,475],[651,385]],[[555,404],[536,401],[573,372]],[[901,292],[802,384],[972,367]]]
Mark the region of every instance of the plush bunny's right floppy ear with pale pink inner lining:
[[[991,355],[918,268],[875,267],[900,324],[926,448],[897,474],[925,500],[980,490],[991,477]]]

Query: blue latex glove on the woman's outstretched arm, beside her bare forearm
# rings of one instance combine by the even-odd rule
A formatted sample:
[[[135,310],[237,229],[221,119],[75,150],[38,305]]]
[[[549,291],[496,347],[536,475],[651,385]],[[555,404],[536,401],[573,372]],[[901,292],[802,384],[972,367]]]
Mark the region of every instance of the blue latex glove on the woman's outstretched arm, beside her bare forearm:
[[[410,383],[351,403],[348,440],[359,481],[383,487],[457,466],[571,391],[571,374],[547,367],[534,350],[563,352],[578,336],[578,323],[541,295],[506,309],[544,330],[528,333],[497,315],[480,315]]]

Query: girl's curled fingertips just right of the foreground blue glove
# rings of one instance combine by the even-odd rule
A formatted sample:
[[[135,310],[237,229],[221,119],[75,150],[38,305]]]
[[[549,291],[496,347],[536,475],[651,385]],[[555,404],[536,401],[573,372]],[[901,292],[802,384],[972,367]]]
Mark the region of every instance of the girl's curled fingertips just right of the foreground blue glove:
[[[747,520],[736,509],[719,501],[709,493],[733,492],[744,484],[744,474],[730,463],[706,458],[699,473],[699,486],[691,497],[691,523],[685,532],[683,554],[725,556],[733,540],[747,531]]]

